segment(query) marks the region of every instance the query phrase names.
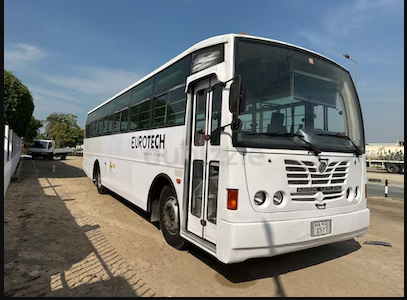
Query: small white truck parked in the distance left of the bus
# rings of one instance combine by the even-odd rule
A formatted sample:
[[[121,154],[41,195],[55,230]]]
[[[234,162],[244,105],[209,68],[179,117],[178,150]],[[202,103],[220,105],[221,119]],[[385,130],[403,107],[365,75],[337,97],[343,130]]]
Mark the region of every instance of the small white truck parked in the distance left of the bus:
[[[55,148],[54,140],[34,139],[28,146],[27,154],[31,155],[32,159],[43,157],[52,160],[54,157],[66,159],[66,156],[72,153],[72,151],[73,149],[71,148]]]

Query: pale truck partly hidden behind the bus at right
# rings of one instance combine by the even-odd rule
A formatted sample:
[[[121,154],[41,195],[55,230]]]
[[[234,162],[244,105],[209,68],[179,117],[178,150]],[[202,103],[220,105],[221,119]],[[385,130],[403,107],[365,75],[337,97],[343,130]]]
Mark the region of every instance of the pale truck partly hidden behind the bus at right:
[[[404,141],[395,144],[371,143],[366,145],[366,166],[404,174]]]

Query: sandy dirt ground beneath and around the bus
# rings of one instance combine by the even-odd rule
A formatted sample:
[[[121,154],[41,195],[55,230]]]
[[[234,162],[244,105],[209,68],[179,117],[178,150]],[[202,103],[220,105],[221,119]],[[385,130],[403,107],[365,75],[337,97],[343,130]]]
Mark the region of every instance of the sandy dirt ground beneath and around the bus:
[[[22,160],[4,199],[5,296],[404,296],[403,201],[369,199],[362,238],[225,266],[171,248],[81,160]]]

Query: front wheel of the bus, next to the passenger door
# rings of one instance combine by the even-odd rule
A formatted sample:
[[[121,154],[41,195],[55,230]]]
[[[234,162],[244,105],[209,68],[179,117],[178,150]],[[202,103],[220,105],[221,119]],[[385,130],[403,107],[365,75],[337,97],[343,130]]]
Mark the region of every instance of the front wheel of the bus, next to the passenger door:
[[[170,246],[177,250],[186,248],[186,241],[180,236],[178,199],[169,186],[165,186],[160,194],[160,228]]]

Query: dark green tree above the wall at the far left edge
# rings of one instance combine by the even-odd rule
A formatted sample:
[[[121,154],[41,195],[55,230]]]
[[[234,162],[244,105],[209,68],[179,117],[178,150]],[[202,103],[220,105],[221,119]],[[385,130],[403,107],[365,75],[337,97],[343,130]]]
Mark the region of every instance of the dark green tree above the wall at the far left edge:
[[[11,71],[4,70],[4,123],[23,137],[33,112],[34,101],[28,88]]]

